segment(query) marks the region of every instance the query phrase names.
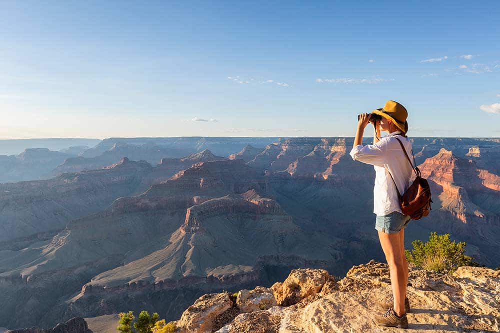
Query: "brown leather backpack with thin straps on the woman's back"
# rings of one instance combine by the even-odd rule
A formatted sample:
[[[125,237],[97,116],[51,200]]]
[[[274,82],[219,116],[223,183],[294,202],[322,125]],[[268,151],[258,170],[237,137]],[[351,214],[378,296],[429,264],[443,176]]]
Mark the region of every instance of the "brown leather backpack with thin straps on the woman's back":
[[[402,213],[404,215],[409,215],[412,220],[419,220],[423,216],[429,215],[429,210],[432,209],[430,207],[432,199],[431,199],[429,183],[425,178],[421,177],[420,170],[418,170],[416,163],[415,167],[413,167],[413,163],[411,163],[411,160],[409,159],[408,154],[406,153],[406,149],[404,149],[401,140],[399,140],[398,138],[395,139],[401,145],[404,155],[406,155],[406,158],[408,159],[411,168],[415,172],[416,178],[415,180],[413,180],[413,183],[408,187],[406,192],[404,192],[403,195],[401,195],[399,193],[399,190],[397,189],[396,182],[394,182],[394,178],[392,178],[390,172],[389,175],[390,178],[392,179],[392,182],[394,183],[394,186],[396,187],[397,196],[399,197],[399,204],[401,206]],[[414,161],[415,157],[413,156],[413,162]]]

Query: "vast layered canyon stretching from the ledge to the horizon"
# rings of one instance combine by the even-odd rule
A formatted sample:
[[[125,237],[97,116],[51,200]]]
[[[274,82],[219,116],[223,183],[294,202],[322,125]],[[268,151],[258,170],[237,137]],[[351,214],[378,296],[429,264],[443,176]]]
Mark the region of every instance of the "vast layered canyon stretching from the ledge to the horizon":
[[[270,287],[296,268],[341,276],[383,260],[373,167],[348,155],[352,138],[286,138],[261,148],[245,139],[161,158],[157,143],[103,140],[80,156],[134,145],[141,159],[0,184],[0,326],[53,327],[128,310],[175,320],[207,293]],[[168,149],[180,153],[193,141],[171,140]],[[500,141],[412,142],[434,203],[408,226],[406,248],[431,231],[450,233],[477,262],[500,265]]]

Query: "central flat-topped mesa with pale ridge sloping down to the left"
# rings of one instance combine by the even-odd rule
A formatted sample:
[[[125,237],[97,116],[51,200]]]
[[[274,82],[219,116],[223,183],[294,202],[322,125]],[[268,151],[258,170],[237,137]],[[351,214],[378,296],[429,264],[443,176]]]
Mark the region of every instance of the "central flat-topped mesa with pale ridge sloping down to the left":
[[[335,250],[337,242],[302,230],[279,204],[253,189],[226,195],[187,208],[184,223],[164,248],[95,276],[70,300],[69,309],[88,309],[83,313],[88,317],[118,311],[133,293],[173,317],[179,309],[158,304],[155,295],[170,298],[193,289],[265,283],[271,278],[267,267],[338,269],[342,254]],[[105,308],[90,307],[96,297]]]

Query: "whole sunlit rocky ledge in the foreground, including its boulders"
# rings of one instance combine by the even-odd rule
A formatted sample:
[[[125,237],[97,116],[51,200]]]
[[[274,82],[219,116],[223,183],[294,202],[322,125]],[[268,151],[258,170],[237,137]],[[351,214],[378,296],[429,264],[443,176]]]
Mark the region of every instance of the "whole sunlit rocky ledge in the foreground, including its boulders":
[[[370,261],[339,280],[323,269],[294,269],[270,288],[205,294],[172,323],[176,333],[382,332],[376,301],[390,295],[388,267]],[[453,275],[410,269],[411,332],[500,330],[500,271],[460,267]],[[399,329],[383,328],[383,332]]]

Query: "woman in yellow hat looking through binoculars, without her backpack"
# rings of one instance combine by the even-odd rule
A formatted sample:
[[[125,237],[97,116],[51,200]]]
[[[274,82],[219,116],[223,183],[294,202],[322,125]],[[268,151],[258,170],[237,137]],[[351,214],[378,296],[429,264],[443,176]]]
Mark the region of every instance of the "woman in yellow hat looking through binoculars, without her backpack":
[[[378,239],[390,270],[392,303],[379,303],[379,306],[387,311],[383,316],[375,316],[374,321],[379,326],[407,328],[408,263],[404,256],[404,228],[410,217],[401,212],[397,190],[402,195],[409,187],[412,167],[397,139],[401,141],[409,155],[411,142],[406,137],[408,113],[404,106],[389,100],[382,109],[373,110],[372,114],[380,115],[382,118],[374,122],[373,144],[362,145],[363,131],[370,122],[371,114],[360,114],[350,156],[375,168],[373,188],[375,230],[378,232]],[[380,138],[380,131],[387,131],[389,134]]]

